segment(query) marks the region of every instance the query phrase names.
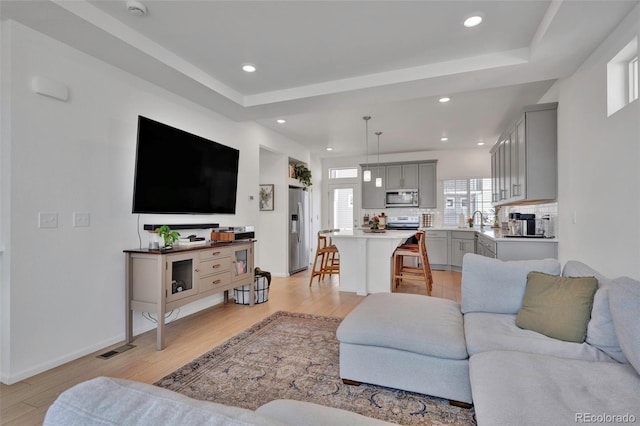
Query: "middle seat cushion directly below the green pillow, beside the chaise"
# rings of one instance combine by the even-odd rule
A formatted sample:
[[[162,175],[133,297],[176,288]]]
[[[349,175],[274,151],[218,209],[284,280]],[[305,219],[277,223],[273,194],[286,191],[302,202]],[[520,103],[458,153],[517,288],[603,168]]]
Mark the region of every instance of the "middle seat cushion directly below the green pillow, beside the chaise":
[[[565,342],[516,325],[516,316],[472,312],[464,316],[469,355],[504,350],[553,355],[563,358],[613,362],[607,354],[587,343]]]

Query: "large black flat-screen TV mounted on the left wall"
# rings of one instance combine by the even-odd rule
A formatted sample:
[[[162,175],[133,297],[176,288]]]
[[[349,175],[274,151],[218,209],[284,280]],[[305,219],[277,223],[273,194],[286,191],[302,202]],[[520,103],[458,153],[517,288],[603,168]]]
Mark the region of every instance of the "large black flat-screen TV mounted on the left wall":
[[[240,151],[138,116],[133,213],[236,212]]]

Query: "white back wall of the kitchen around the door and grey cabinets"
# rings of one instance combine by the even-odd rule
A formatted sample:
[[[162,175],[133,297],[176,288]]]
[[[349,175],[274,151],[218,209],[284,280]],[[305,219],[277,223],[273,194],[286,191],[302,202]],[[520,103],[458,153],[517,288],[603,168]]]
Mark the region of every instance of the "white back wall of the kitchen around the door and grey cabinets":
[[[489,154],[490,147],[478,147],[474,149],[454,150],[454,151],[421,151],[401,154],[380,155],[381,163],[393,163],[397,161],[424,161],[438,160],[437,179],[438,179],[438,210],[442,213],[443,209],[443,184],[445,179],[469,179],[491,177],[491,156]],[[364,157],[341,157],[341,158],[325,158],[322,160],[322,170],[327,173],[330,168],[337,167],[357,167],[364,162]],[[372,165],[375,170],[375,166]],[[354,183],[357,185],[358,194],[360,194],[359,179],[341,180],[343,183]],[[328,201],[328,180],[322,181],[322,227],[329,226],[329,201]],[[354,206],[355,217],[358,223],[361,222],[364,211],[360,205]],[[387,209],[386,213],[390,215],[417,215],[423,209]],[[442,217],[442,215],[440,215]]]

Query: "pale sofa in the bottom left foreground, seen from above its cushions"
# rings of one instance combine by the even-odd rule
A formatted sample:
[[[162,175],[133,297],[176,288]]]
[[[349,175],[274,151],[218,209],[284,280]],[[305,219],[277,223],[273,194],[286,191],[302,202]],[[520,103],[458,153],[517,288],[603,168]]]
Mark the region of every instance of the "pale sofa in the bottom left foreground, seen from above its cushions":
[[[256,411],[188,398],[146,383],[97,377],[64,391],[49,407],[44,426],[89,425],[390,425],[337,408],[274,400]]]

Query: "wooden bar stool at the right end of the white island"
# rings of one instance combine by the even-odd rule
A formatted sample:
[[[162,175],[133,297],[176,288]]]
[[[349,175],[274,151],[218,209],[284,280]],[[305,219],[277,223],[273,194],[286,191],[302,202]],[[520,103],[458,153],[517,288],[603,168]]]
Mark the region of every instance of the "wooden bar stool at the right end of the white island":
[[[431,275],[431,265],[427,255],[426,237],[424,231],[416,232],[418,244],[405,244],[398,247],[393,253],[393,282],[395,288],[400,286],[402,280],[424,281],[427,285],[427,294],[431,296],[433,288],[433,276]],[[404,264],[405,257],[417,258],[419,267],[407,266]]]

